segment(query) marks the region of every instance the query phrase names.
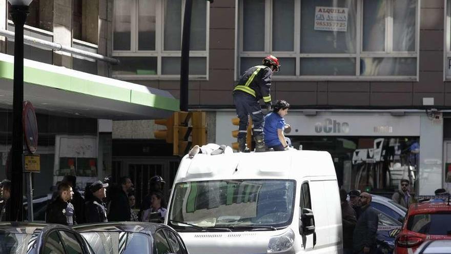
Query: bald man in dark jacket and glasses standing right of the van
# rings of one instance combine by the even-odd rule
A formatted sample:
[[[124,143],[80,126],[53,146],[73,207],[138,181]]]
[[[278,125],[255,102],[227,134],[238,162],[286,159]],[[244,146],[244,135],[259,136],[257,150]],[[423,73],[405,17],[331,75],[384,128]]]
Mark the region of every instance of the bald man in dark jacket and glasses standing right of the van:
[[[376,210],[371,207],[371,194],[367,192],[360,193],[359,205],[361,214],[357,220],[353,233],[354,253],[376,254],[376,233],[379,224],[379,217]]]

